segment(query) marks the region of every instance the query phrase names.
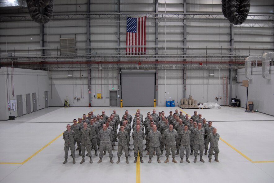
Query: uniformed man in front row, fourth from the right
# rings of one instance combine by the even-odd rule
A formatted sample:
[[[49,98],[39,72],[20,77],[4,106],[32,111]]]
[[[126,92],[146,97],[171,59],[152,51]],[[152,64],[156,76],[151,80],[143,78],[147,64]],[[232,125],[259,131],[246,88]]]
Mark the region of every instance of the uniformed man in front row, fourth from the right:
[[[175,113],[174,115],[176,116]],[[173,129],[173,124],[169,124],[169,128],[164,131],[163,137],[165,139],[165,146],[167,150],[165,154],[167,159],[164,161],[164,163],[168,162],[170,149],[171,149],[172,162],[177,163],[177,161],[175,160],[175,152],[176,152],[176,139],[178,137],[178,133],[176,132],[175,129]]]

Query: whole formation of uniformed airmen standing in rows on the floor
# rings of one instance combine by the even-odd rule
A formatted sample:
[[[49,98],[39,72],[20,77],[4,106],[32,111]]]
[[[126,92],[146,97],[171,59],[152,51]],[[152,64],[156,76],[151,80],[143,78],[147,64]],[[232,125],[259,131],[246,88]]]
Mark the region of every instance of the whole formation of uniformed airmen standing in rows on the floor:
[[[178,113],[177,109],[175,113],[169,111],[168,116],[165,116],[164,111],[157,114],[153,110],[152,113],[147,112],[147,116],[144,118],[139,109],[134,117],[128,114],[128,110],[126,110],[121,120],[116,110],[109,117],[105,111],[102,111],[102,115],[94,115],[93,111],[90,111],[88,116],[83,114],[83,118],[78,118],[78,122],[74,119],[73,124],[67,124],[66,128],[67,130],[63,133],[65,141],[64,164],[67,163],[69,149],[71,150],[70,156],[75,163],[75,144],[77,144],[76,150],[79,150],[79,155],[82,156],[81,164],[85,162],[85,156],[88,156],[89,162],[93,163],[91,150],[94,149],[95,156],[98,156],[97,145],[100,158],[97,163],[102,162],[106,151],[108,151],[110,162],[114,163],[112,151],[116,146],[115,142],[118,142],[118,160],[116,163],[120,163],[123,150],[126,163],[129,163],[130,137],[133,139],[134,163],[137,162],[138,152],[140,162],[143,163],[144,140],[146,140],[146,155],[149,155],[148,163],[151,163],[155,155],[157,162],[161,163],[160,155],[163,155],[164,150],[166,150],[164,163],[169,161],[169,155],[172,157],[172,162],[177,163],[175,155],[179,153],[180,163],[183,163],[184,155],[185,161],[190,163],[189,157],[193,154],[194,163],[196,163],[198,155],[200,155],[200,161],[204,163],[204,150],[205,155],[209,154],[209,162],[211,162],[212,155],[214,155],[214,160],[219,162],[218,140],[220,135],[217,133],[217,129],[212,126],[212,122],[206,123],[206,119],[202,118],[201,114],[198,115],[197,111],[189,118],[188,114],[183,115],[182,111]],[[133,132],[131,133],[132,129]],[[85,154],[85,150],[87,150],[87,154]]]

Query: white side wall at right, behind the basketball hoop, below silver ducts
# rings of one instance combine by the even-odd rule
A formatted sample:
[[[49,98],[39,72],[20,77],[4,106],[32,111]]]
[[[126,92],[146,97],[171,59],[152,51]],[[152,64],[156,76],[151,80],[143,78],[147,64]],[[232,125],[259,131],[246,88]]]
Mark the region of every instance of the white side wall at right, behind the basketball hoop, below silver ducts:
[[[238,69],[238,81],[249,80],[248,101],[253,101],[254,110],[273,115],[274,104],[274,66],[270,66],[271,79],[264,79],[262,68],[252,68],[252,80],[245,77],[245,69]],[[246,107],[247,89],[236,84],[236,95],[241,99],[241,107]]]

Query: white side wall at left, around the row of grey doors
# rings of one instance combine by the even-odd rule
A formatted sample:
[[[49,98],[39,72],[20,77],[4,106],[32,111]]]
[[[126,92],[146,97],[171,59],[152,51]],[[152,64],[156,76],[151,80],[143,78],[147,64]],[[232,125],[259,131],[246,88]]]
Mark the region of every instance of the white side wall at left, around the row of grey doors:
[[[7,79],[8,78],[8,79]],[[0,68],[0,84],[1,84],[1,115],[0,120],[7,120],[9,116],[16,116],[17,111],[8,110],[7,100],[16,99],[17,95],[23,97],[23,114],[27,113],[26,109],[26,94],[31,94],[31,111],[33,111],[32,105],[32,93],[36,93],[37,98],[37,110],[45,107],[44,92],[48,91],[48,72],[30,69],[19,69],[14,68],[13,71],[13,88],[14,95],[12,95],[12,84],[11,84],[11,68],[2,67]],[[8,84],[8,89],[7,89]],[[8,93],[8,97],[7,97]],[[2,108],[3,107],[3,108]],[[3,112],[3,111],[4,112]]]

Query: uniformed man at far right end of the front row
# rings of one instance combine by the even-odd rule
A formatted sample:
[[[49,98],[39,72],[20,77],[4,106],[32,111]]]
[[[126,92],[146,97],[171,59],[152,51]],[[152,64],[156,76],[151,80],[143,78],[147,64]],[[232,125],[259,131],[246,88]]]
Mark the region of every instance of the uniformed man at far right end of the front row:
[[[214,161],[217,161],[219,163],[219,160],[218,160],[218,154],[220,152],[219,151],[219,144],[218,144],[219,138],[220,138],[220,135],[219,135],[219,133],[217,133],[216,128],[213,128],[212,133],[209,133],[208,137],[206,138],[207,145],[208,145],[208,143],[210,143],[209,151],[208,151],[208,159],[209,159],[208,161],[209,161],[209,163],[211,163],[213,150],[215,152]]]

